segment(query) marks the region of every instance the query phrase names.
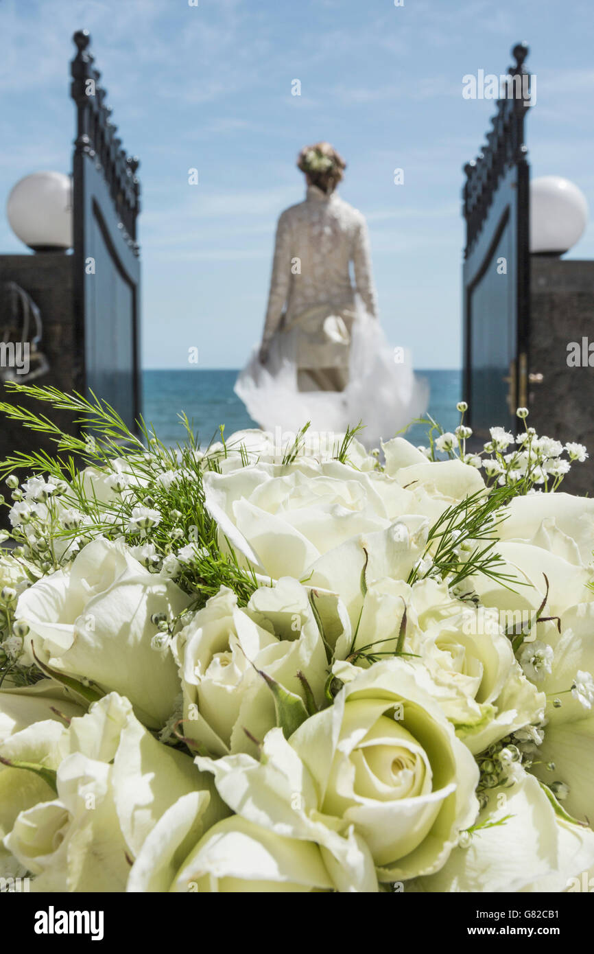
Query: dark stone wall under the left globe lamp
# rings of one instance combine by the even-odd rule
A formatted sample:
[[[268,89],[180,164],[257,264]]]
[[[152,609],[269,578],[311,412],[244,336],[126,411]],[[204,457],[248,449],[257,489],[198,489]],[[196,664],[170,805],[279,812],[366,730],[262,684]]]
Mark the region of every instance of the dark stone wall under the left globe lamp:
[[[80,389],[83,371],[79,336],[74,326],[72,261],[71,255],[55,252],[0,256],[0,293],[4,282],[15,281],[31,295],[41,312],[43,337],[39,350],[48,358],[50,370],[31,384],[51,384],[64,391]],[[4,334],[3,321],[0,317],[0,341]],[[21,404],[35,412],[41,410],[63,429],[74,432],[70,414],[56,412],[47,404],[10,394],[1,382],[0,400]],[[14,451],[29,451],[39,447],[53,452],[55,445],[44,435],[25,429],[0,415],[0,460]],[[0,487],[0,492],[5,492],[5,489]]]

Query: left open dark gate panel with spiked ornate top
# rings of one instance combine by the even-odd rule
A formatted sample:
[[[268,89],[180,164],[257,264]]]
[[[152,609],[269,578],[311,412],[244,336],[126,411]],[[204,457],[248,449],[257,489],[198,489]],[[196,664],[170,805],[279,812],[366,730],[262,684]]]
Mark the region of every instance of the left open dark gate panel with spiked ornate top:
[[[115,135],[88,31],[73,40],[73,304],[82,359],[76,387],[105,398],[133,427],[141,400],[138,159],[127,156]]]

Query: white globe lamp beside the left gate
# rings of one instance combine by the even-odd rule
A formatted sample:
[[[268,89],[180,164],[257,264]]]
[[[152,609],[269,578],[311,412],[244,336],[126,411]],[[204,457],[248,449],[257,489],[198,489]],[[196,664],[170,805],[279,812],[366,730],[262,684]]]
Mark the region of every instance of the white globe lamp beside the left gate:
[[[64,173],[33,173],[10,191],[7,216],[15,236],[35,252],[72,248],[72,179]]]

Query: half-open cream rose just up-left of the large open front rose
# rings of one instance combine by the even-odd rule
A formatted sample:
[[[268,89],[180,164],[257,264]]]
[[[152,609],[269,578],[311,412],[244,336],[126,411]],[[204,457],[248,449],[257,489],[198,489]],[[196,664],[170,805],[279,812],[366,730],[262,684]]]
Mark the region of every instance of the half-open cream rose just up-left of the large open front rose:
[[[307,591],[289,577],[257,590],[245,609],[221,587],[174,637],[174,655],[184,736],[217,756],[256,751],[250,736],[262,739],[277,724],[274,695],[260,671],[305,699],[301,673],[317,704],[323,699],[323,642]]]

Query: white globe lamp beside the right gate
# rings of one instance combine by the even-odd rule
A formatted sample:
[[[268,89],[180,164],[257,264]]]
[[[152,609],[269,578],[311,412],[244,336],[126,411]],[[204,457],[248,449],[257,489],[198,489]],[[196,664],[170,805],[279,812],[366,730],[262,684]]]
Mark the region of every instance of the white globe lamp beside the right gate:
[[[588,204],[577,185],[562,176],[530,182],[530,251],[560,256],[584,235]]]

